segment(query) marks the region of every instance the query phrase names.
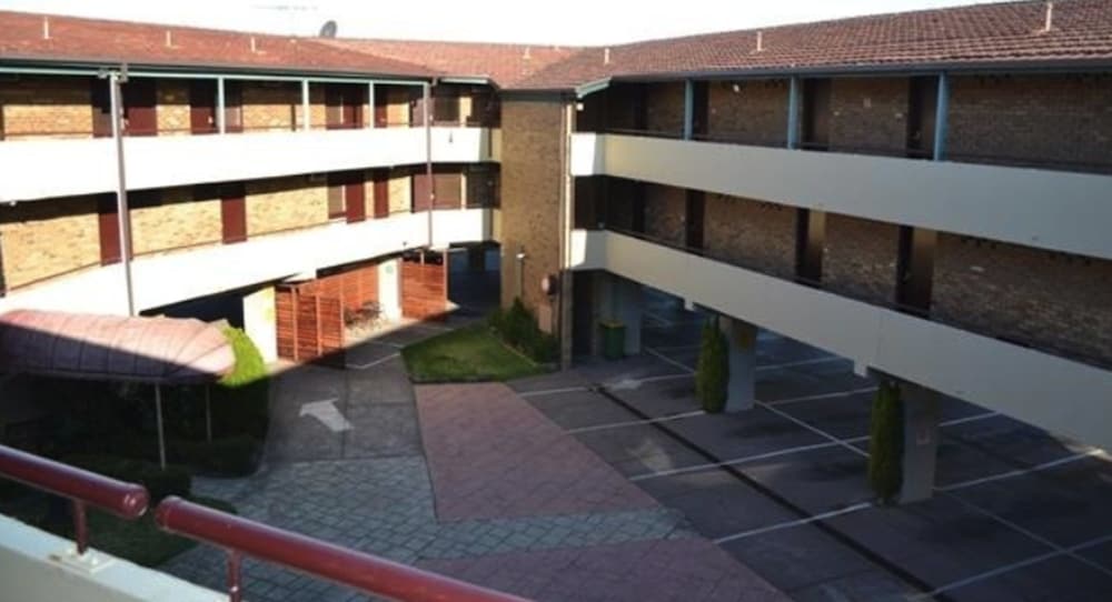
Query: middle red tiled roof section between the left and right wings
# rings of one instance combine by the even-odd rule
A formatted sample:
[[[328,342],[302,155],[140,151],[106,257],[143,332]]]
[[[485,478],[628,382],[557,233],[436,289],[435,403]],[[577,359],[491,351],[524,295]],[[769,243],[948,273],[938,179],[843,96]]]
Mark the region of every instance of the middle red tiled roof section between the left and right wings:
[[[453,76],[484,76],[513,88],[546,67],[575,56],[578,48],[405,40],[329,40],[338,48],[411,61]]]

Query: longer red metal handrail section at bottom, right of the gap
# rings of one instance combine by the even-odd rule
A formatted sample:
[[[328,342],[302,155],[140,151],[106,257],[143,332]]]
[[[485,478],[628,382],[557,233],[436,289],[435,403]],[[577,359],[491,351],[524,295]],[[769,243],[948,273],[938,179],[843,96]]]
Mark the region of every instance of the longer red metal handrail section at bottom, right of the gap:
[[[325,541],[198,505],[162,500],[155,521],[170,533],[228,551],[228,596],[239,602],[242,555],[409,602],[522,602],[524,599],[421,571]]]

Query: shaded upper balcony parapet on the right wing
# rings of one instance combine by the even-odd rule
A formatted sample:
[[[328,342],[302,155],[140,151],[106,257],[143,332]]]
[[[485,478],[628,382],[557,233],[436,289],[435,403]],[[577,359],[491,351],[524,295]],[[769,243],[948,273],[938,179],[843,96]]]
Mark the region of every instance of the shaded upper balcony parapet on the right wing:
[[[1112,177],[577,133],[574,175],[613,175],[1112,259]]]

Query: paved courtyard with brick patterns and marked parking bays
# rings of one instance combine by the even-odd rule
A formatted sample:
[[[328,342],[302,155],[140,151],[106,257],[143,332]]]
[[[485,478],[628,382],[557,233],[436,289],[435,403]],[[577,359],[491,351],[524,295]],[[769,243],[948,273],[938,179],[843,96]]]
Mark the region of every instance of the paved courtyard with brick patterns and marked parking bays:
[[[762,332],[761,403],[706,415],[701,318],[652,295],[639,357],[411,387],[399,348],[467,320],[359,345],[346,370],[286,372],[265,468],[197,491],[539,600],[1112,595],[1112,466],[1096,450],[947,399],[934,499],[878,508],[864,478],[873,384],[843,359]],[[348,428],[305,414],[324,401]],[[220,589],[222,562],[200,546],[166,569]],[[251,561],[246,575],[249,600],[365,599]]]

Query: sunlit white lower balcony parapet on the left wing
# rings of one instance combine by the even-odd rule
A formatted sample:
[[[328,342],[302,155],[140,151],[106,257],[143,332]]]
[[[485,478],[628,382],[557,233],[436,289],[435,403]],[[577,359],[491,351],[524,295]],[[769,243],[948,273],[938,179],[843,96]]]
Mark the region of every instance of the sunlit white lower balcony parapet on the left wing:
[[[431,217],[430,217],[431,215]],[[429,227],[433,229],[429,240]],[[132,261],[138,311],[270,282],[320,268],[340,265],[428,245],[481,242],[496,238],[493,209],[396,213],[359,223],[334,222],[237,244],[197,247]],[[228,269],[235,265],[234,270]],[[123,269],[119,264],[60,275],[0,299],[0,313],[12,309],[72,310],[73,299],[91,313],[127,313]]]

